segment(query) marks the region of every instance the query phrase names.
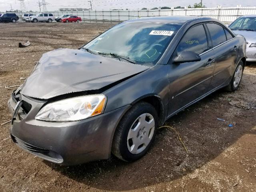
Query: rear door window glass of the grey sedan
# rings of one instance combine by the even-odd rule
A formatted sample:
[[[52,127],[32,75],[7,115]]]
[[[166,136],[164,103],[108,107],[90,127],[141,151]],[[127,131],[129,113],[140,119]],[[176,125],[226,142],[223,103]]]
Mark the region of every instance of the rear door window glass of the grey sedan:
[[[214,47],[219,44],[222,44],[227,40],[226,34],[222,26],[215,23],[208,23],[206,25],[210,31],[210,35],[212,37],[212,43]]]

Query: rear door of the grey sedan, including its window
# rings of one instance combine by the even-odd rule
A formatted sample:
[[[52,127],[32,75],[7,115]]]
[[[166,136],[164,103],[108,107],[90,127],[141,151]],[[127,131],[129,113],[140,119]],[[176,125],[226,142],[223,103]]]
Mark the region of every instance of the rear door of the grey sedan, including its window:
[[[238,40],[222,25],[206,24],[216,56],[210,89],[229,83],[238,58]]]

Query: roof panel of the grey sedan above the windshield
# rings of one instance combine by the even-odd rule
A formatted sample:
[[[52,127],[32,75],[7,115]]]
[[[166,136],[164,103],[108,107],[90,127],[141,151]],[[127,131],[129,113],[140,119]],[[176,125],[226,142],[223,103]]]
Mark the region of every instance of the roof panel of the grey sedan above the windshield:
[[[190,20],[212,20],[216,21],[212,18],[206,18],[201,16],[155,16],[155,17],[146,17],[146,18],[139,18],[139,19],[133,19],[128,20],[126,23],[130,22],[145,22],[145,23],[170,23],[170,24],[184,24],[187,21]]]

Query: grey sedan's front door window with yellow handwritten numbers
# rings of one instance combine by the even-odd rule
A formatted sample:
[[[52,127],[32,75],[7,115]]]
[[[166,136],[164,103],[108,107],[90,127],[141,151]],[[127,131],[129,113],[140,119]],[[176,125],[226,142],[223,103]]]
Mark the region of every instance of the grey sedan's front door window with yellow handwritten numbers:
[[[192,51],[201,54],[208,50],[208,42],[203,25],[198,25],[190,28],[183,36],[178,45],[178,54],[182,51]]]

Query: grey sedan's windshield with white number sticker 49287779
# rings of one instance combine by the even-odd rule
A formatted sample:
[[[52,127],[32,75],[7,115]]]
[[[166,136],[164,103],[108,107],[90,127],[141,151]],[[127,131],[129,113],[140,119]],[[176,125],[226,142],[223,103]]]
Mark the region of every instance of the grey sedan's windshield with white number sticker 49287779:
[[[154,66],[181,26],[166,23],[122,23],[104,32],[83,49],[124,62]]]

